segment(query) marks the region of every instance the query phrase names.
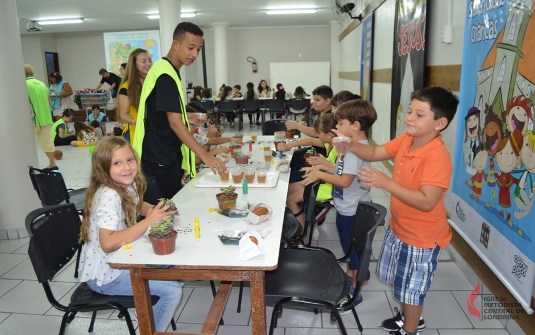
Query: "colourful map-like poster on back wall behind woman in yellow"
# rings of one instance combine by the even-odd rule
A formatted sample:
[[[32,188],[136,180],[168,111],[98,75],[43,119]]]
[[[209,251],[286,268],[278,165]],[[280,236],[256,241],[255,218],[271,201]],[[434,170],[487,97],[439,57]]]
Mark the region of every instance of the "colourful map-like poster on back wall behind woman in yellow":
[[[119,73],[121,64],[126,63],[130,52],[137,48],[147,50],[152,56],[153,62],[160,59],[160,32],[147,30],[104,33],[106,69]]]

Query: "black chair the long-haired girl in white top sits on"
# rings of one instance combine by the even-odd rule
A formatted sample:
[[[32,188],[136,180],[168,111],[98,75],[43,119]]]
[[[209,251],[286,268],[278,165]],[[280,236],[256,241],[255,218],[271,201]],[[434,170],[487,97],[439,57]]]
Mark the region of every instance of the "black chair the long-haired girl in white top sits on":
[[[135,307],[133,296],[98,294],[86,283],[81,283],[72,294],[68,306],[61,304],[54,297],[49,281],[69,263],[78,249],[80,217],[74,204],[61,204],[32,211],[26,216],[26,230],[30,236],[28,255],[37,279],[43,285],[52,306],[64,312],[59,335],[65,334],[65,328],[78,312],[93,312],[88,330],[91,333],[97,311],[113,309],[119,310],[124,316],[129,333],[136,333],[128,313],[128,308]],[[159,299],[160,297],[153,295],[151,303],[154,305]],[[176,330],[174,320],[171,320],[171,327]]]

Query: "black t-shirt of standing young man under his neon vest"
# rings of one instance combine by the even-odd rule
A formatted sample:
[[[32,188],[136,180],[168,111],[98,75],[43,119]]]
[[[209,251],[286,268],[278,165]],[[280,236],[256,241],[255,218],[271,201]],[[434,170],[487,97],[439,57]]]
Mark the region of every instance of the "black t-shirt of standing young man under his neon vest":
[[[180,72],[176,68],[175,71],[180,78]],[[174,79],[167,74],[158,77],[146,101],[143,160],[163,166],[170,165],[177,158],[182,160],[182,141],[171,129],[166,113],[182,113],[181,105]]]

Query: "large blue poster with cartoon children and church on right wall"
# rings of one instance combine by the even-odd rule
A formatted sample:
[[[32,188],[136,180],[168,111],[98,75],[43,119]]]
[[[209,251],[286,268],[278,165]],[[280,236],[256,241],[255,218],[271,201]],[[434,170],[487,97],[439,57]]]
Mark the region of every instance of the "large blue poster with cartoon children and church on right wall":
[[[533,0],[466,1],[452,226],[524,308],[535,276]]]

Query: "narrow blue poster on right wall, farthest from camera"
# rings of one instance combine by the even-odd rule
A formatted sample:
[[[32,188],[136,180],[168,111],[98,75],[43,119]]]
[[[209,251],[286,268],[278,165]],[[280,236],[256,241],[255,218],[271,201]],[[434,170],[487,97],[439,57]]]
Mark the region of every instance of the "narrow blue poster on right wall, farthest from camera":
[[[362,23],[362,48],[360,57],[360,94],[372,100],[373,69],[373,12]]]

